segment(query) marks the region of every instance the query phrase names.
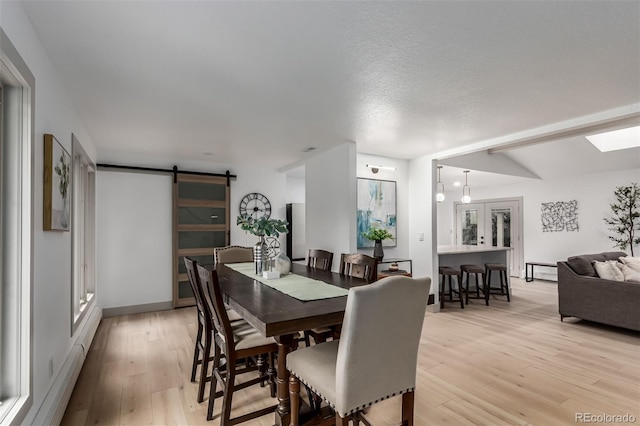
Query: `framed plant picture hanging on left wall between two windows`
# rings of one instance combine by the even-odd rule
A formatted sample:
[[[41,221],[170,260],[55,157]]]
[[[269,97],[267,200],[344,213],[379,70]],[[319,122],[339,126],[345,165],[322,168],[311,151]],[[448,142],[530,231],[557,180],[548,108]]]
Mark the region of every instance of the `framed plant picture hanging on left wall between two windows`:
[[[68,231],[71,223],[71,156],[60,142],[44,135],[45,231]]]

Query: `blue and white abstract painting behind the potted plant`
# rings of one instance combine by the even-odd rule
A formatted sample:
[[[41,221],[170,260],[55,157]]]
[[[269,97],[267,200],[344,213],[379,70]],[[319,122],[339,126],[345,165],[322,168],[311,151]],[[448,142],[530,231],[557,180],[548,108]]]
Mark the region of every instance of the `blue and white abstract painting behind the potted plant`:
[[[393,239],[382,241],[383,247],[396,246],[396,183],[390,180],[358,178],[358,248],[373,247],[362,236],[370,227],[386,229]]]

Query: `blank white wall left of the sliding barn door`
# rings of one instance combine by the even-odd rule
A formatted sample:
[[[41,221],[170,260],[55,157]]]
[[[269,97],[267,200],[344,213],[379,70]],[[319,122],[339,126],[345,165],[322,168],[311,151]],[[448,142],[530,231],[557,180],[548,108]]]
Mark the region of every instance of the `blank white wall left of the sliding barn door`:
[[[172,177],[101,170],[97,181],[100,304],[171,301]]]

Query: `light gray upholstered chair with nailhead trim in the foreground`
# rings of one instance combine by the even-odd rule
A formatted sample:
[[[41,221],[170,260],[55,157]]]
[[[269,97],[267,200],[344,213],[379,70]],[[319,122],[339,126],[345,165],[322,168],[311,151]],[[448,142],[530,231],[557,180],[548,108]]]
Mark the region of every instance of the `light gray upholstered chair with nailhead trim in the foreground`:
[[[287,355],[291,421],[298,424],[300,382],[336,411],[336,424],[402,394],[403,425],[413,424],[416,362],[431,278],[395,276],[349,290],[340,340]],[[384,336],[384,344],[381,344]]]

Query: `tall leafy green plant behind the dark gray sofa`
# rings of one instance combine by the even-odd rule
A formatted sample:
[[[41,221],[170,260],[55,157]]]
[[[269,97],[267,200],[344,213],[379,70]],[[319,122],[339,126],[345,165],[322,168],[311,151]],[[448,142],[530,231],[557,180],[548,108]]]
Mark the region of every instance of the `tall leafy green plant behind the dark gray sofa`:
[[[615,247],[626,250],[640,244],[640,186],[632,183],[630,186],[620,186],[614,191],[616,202],[611,204],[612,217],[605,217],[609,230],[614,235],[609,239],[615,242]]]

